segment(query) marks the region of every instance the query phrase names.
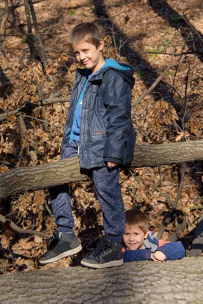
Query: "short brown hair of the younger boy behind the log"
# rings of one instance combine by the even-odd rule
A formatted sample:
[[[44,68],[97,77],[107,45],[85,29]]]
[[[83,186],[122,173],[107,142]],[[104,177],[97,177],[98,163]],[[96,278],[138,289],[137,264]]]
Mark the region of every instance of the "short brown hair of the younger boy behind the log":
[[[139,209],[127,210],[125,211],[125,225],[128,227],[139,227],[146,234],[148,230],[148,218]]]

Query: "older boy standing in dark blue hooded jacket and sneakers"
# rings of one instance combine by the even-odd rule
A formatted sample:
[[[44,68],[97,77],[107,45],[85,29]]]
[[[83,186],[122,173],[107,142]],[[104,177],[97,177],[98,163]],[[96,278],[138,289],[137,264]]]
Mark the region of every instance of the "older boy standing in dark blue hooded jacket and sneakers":
[[[100,238],[101,245],[81,264],[90,268],[112,267],[123,263],[125,212],[119,164],[131,161],[136,139],[130,117],[134,68],[113,59],[104,60],[104,40],[93,23],[78,24],[71,31],[69,45],[85,69],[76,72],[61,159],[79,152],[80,167],[91,170],[107,235]],[[54,262],[82,248],[73,232],[71,199],[64,185],[51,189],[51,204],[59,231],[53,232],[41,263]]]

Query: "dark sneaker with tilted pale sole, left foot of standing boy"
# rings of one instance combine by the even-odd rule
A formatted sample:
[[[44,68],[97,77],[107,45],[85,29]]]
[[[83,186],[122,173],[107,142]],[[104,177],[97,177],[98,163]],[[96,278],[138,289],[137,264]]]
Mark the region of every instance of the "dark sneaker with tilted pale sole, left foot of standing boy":
[[[82,246],[75,233],[61,233],[53,231],[53,237],[48,240],[47,252],[40,257],[40,263],[52,263],[60,258],[78,253]]]

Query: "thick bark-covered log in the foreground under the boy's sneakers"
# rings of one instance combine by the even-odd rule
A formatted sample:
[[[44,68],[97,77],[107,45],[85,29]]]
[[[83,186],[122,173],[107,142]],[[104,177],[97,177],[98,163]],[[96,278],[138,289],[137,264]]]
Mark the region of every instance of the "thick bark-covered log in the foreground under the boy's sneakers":
[[[0,277],[1,304],[202,304],[203,258],[92,270],[54,268]]]

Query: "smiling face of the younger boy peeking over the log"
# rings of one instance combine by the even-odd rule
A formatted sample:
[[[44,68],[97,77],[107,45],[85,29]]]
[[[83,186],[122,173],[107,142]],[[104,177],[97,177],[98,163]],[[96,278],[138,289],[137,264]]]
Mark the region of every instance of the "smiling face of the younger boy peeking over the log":
[[[125,226],[125,233],[123,235],[123,243],[125,246],[133,251],[136,249],[145,249],[144,240],[147,238],[149,234],[149,230],[146,234],[140,229],[140,227],[136,226]]]

